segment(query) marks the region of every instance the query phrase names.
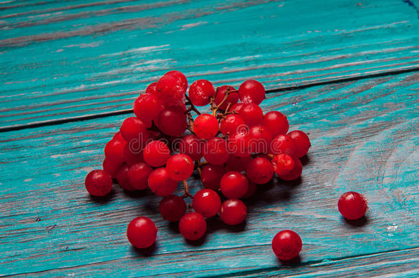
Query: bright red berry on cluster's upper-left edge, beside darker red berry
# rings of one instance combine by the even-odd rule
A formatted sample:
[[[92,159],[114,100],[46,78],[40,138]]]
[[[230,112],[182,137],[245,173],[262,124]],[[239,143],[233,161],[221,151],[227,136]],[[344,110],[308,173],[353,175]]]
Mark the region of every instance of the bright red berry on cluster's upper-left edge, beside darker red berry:
[[[147,128],[150,128],[152,120],[156,121],[163,106],[155,94],[143,93],[135,100],[133,109],[135,116],[141,119]]]

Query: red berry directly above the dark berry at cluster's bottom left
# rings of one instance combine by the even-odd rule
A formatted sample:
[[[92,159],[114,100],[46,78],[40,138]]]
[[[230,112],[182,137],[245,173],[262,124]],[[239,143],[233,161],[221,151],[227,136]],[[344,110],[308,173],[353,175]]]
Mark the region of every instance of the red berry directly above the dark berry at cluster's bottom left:
[[[177,181],[170,178],[165,167],[152,170],[148,176],[148,186],[157,196],[166,197],[176,190]]]

